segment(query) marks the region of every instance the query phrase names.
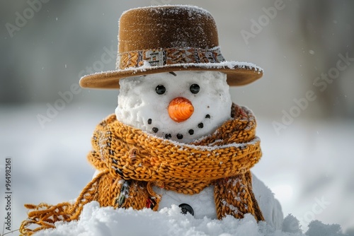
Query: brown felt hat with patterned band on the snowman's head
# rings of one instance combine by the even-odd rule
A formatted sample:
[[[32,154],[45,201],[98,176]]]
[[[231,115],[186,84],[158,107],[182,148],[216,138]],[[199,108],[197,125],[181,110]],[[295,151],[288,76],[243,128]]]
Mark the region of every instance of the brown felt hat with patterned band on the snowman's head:
[[[119,22],[115,71],[83,76],[83,88],[119,88],[120,78],[170,71],[220,71],[229,85],[256,81],[263,70],[251,63],[225,61],[212,15],[197,6],[133,8]]]

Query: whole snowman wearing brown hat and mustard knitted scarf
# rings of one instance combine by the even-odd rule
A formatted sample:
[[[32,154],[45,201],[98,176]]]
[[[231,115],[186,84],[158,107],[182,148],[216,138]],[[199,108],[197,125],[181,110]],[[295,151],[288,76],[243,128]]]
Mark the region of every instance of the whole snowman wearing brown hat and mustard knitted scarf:
[[[195,218],[250,213],[281,228],[280,204],[250,170],[261,158],[256,119],[229,93],[263,70],[225,61],[214,19],[196,6],[133,8],[119,23],[117,69],[80,81],[120,89],[114,114],[93,132],[88,160],[96,173],[76,203],[30,206],[21,228],[76,220],[89,201],[153,211],[176,205]]]

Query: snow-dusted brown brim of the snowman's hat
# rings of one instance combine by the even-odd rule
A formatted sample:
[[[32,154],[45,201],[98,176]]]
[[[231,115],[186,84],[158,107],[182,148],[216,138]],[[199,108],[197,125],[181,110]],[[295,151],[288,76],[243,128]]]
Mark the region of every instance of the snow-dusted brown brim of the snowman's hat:
[[[230,86],[246,85],[263,76],[263,69],[255,64],[240,61],[222,61],[220,63],[141,66],[105,71],[83,76],[79,83],[82,88],[120,88],[119,80],[121,78],[170,71],[219,71],[227,74],[227,83]]]

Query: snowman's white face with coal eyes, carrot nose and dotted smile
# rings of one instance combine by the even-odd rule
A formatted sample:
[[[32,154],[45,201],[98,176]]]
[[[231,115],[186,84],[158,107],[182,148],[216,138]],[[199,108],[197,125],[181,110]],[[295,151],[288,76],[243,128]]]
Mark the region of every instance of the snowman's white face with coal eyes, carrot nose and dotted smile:
[[[182,143],[212,134],[231,118],[226,74],[176,71],[120,80],[117,119]]]

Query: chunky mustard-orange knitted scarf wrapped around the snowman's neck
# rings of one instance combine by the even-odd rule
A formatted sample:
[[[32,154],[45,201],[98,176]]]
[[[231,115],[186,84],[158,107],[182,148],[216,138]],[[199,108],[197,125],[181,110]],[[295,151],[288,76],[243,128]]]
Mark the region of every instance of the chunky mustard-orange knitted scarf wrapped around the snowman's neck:
[[[152,187],[183,194],[198,194],[213,185],[217,218],[243,218],[251,213],[264,220],[253,195],[250,168],[261,158],[256,119],[245,107],[232,105],[232,119],[214,134],[193,143],[158,138],[119,122],[103,120],[93,133],[89,162],[101,172],[81,191],[75,203],[50,206],[26,204],[28,219],[23,235],[55,228],[59,220],[77,220],[90,201],[101,206],[157,211],[161,196]],[[30,225],[38,227],[30,229]]]

